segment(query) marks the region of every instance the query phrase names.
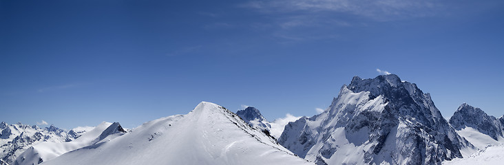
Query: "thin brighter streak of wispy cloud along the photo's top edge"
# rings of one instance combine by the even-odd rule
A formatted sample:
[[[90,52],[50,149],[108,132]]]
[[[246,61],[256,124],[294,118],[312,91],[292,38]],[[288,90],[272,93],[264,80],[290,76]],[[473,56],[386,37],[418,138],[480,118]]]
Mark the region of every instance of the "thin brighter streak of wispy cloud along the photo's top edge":
[[[333,14],[366,17],[375,21],[428,17],[437,14],[443,7],[439,1],[434,0],[258,0],[240,6],[264,13],[333,12]]]

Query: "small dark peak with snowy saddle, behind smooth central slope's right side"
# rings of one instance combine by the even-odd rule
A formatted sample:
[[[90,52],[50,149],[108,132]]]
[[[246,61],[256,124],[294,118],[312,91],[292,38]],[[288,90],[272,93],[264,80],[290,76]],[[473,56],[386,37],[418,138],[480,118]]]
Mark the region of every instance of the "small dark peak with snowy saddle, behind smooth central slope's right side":
[[[246,109],[237,111],[236,114],[253,128],[260,129],[264,133],[275,137],[275,139],[278,139],[282,135],[288,122],[293,122],[300,118],[287,114],[285,118],[278,118],[273,122],[268,122],[261,112],[254,107],[246,107]]]

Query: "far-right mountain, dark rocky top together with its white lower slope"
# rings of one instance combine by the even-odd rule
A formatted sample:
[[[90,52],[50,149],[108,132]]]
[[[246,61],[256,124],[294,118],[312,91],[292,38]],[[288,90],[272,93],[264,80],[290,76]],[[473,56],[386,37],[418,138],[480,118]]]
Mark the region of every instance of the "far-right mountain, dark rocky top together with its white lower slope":
[[[457,109],[450,124],[466,140],[479,149],[504,143],[504,126],[501,118],[487,115],[485,111],[463,103]]]

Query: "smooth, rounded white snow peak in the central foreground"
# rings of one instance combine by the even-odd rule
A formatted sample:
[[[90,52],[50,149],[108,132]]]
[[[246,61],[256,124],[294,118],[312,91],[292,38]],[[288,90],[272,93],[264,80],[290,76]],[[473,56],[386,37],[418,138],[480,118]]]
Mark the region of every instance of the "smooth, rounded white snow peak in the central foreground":
[[[54,164],[312,164],[235,113],[201,102],[187,115],[146,122],[131,132],[43,162]]]

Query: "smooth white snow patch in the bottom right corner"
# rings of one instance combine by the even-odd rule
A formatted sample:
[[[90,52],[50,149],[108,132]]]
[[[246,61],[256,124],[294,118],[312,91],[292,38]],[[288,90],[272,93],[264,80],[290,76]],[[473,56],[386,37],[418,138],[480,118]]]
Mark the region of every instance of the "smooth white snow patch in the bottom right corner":
[[[445,165],[474,165],[474,164],[504,164],[504,144],[488,146],[470,157],[457,158],[443,162]]]

